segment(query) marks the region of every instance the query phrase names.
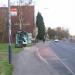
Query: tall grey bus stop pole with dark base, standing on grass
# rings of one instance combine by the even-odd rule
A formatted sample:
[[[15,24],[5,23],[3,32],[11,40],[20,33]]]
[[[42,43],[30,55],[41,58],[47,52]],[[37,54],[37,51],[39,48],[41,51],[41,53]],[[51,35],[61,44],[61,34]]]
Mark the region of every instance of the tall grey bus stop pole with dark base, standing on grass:
[[[9,38],[9,44],[8,44],[8,60],[9,64],[12,63],[12,49],[11,49],[11,14],[10,14],[10,0],[8,0],[8,38]]]

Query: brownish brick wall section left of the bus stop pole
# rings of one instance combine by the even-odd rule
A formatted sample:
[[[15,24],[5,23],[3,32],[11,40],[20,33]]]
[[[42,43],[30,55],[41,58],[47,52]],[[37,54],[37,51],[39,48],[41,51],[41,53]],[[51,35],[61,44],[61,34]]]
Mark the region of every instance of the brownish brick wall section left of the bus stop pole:
[[[0,7],[0,42],[7,41],[8,9]]]

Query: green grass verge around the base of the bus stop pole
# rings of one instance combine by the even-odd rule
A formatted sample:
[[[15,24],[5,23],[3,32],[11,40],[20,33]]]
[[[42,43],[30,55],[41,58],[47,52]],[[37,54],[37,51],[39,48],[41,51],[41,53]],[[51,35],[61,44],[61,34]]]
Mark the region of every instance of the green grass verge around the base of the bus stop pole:
[[[20,52],[22,48],[15,48],[12,44],[12,52],[14,54]],[[0,43],[0,75],[12,75],[13,66],[8,63],[8,44]]]

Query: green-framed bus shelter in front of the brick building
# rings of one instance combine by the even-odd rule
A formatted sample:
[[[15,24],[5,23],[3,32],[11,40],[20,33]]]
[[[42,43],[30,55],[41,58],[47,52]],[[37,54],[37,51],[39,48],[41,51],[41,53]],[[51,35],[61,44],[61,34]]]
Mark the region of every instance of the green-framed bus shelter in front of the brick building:
[[[28,44],[28,32],[16,32],[16,47],[26,47]]]

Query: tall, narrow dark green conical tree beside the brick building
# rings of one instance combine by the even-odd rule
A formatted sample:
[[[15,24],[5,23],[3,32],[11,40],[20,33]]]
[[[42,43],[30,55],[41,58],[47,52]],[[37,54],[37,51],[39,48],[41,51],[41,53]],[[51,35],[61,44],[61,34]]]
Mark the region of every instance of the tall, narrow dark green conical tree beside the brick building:
[[[43,17],[40,12],[38,12],[36,17],[36,25],[38,27],[37,39],[43,40],[45,36],[45,25],[44,25]]]

